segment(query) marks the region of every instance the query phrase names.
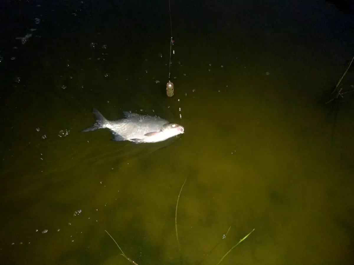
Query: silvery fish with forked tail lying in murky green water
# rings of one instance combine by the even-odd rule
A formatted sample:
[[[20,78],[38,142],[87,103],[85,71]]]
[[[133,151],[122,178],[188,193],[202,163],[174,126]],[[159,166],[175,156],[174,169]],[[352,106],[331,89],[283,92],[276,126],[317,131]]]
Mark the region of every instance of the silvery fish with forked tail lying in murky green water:
[[[113,134],[113,141],[154,143],[165,141],[173,136],[184,133],[183,126],[171,123],[159,116],[141,115],[123,111],[124,118],[107,120],[96,108],[93,108],[92,113],[96,116],[95,124],[82,130],[82,132],[108,128]]]

